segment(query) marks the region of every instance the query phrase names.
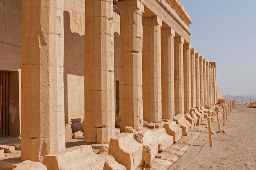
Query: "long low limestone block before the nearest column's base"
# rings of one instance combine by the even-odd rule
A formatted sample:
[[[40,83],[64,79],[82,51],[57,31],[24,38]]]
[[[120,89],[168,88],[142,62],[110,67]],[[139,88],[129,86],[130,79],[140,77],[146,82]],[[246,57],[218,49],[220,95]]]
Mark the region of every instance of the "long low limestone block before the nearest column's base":
[[[105,160],[98,157],[90,145],[74,146],[44,157],[44,165],[49,170],[103,170],[104,164]]]

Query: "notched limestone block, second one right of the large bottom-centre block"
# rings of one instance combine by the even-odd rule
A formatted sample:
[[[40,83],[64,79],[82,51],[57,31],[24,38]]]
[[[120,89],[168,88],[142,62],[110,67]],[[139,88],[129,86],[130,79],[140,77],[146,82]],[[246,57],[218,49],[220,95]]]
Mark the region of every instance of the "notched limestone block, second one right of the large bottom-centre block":
[[[152,133],[158,139],[158,151],[162,152],[173,144],[173,136],[166,133],[165,128],[155,129]]]

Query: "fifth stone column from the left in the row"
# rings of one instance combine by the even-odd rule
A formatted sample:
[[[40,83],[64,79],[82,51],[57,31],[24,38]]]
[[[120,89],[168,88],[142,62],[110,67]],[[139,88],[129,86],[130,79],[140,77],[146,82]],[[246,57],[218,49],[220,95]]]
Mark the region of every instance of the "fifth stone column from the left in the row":
[[[172,28],[161,30],[162,118],[174,118],[174,35]]]

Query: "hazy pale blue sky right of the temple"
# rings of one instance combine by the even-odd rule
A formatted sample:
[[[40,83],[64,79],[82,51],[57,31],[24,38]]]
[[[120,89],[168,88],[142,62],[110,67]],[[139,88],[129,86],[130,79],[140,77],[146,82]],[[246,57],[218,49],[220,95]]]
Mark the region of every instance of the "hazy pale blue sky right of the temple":
[[[180,0],[191,48],[216,62],[222,95],[256,95],[256,0]]]

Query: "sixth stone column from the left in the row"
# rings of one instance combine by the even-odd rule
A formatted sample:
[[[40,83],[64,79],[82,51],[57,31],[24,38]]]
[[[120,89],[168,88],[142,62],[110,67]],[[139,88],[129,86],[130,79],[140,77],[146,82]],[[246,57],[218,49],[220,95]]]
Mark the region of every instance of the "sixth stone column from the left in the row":
[[[175,116],[180,113],[184,114],[183,44],[182,37],[174,38]]]

